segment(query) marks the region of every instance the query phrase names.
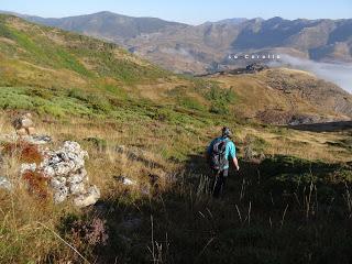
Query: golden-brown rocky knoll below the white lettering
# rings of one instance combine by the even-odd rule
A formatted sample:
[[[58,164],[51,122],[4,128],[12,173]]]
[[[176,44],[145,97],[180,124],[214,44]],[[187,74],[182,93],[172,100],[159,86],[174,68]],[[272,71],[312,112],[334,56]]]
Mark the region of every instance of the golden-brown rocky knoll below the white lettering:
[[[350,94],[306,72],[263,68],[224,72],[210,78],[235,92],[234,111],[246,119],[299,124],[352,117]]]

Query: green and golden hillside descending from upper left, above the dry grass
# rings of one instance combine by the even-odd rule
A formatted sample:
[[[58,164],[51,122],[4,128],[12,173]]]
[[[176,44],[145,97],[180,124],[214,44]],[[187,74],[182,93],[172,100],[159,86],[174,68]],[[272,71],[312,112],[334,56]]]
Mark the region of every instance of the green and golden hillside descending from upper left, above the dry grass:
[[[180,106],[201,116],[213,105],[216,111],[227,111],[229,105],[221,92],[208,97],[215,86],[210,81],[178,77],[114,44],[14,16],[0,16],[0,51],[2,109],[117,118],[127,105],[141,116],[145,105]]]

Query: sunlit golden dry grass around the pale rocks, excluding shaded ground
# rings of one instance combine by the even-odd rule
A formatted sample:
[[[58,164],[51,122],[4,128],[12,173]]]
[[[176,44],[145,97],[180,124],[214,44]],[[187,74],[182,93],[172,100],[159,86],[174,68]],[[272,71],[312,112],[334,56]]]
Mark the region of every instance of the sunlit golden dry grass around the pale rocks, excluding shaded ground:
[[[78,118],[72,120],[43,120],[35,119],[37,133],[53,136],[54,142],[50,147],[55,148],[65,140],[74,140],[78,141],[82,148],[88,151],[90,157],[86,162],[86,167],[89,180],[91,184],[99,186],[102,194],[101,199],[105,201],[122,198],[128,190],[128,202],[134,207],[133,204],[135,201],[155,195],[155,188],[151,180],[153,177],[157,178],[158,193],[175,193],[176,190],[173,189],[174,185],[169,177],[177,175],[179,179],[177,197],[187,207],[189,206],[193,210],[197,210],[202,205],[212,205],[208,188],[209,178],[206,175],[195,175],[184,169],[186,164],[188,166],[194,165],[188,161],[188,156],[191,154],[201,155],[211,138],[218,135],[220,127],[217,129],[194,129],[194,132],[180,132],[178,128],[161,122],[128,123]],[[310,133],[296,131],[287,131],[280,134],[261,127],[251,129],[237,127],[234,130],[237,132],[234,140],[240,147],[243,147],[246,136],[254,135],[267,143],[264,150],[265,154],[287,154],[308,160],[320,158],[327,162],[348,160],[346,154],[337,155],[337,153],[341,152],[339,147],[324,144],[327,140],[333,141],[344,136],[341,134],[311,135]],[[2,114],[0,117],[0,134],[9,133],[13,133],[10,118]],[[101,140],[103,145],[96,145],[86,139]],[[301,142],[307,143],[301,144]],[[125,151],[121,151],[121,148]],[[178,162],[168,158],[174,155],[180,156]],[[0,175],[7,176],[14,188],[13,191],[0,190],[1,261],[6,263],[82,261],[82,257],[69,246],[69,241],[66,241],[67,244],[62,240],[64,238],[57,237],[57,234],[61,235],[57,230],[62,224],[63,218],[70,213],[84,216],[85,210],[74,208],[69,201],[63,205],[53,205],[51,199],[43,201],[31,195],[28,191],[25,182],[20,178],[20,161],[15,154],[6,156],[4,161]],[[116,179],[117,176],[128,177],[134,180],[136,185],[123,186]],[[195,185],[190,186],[190,182]],[[150,193],[142,194],[142,189],[147,189]],[[235,201],[237,210],[234,210],[234,213],[240,216],[238,221],[244,226],[254,221],[252,211],[255,209],[255,205],[249,204],[251,202],[249,198],[243,199],[246,193],[244,191],[245,195],[242,193],[242,188],[239,187],[239,198],[237,198],[239,200]],[[143,198],[143,196],[146,197]],[[164,205],[163,200],[161,202]],[[310,204],[308,202],[307,205]],[[287,209],[284,209],[279,211],[279,221],[277,223],[273,223],[275,217],[271,216],[271,224],[285,226],[285,222],[289,220],[289,213],[286,213]],[[164,206],[163,211],[165,213],[169,210]],[[310,211],[310,209],[307,210]],[[201,213],[206,216],[207,221],[215,221],[211,212]],[[215,226],[217,224],[215,223]],[[213,238],[208,238],[208,241],[212,243]],[[156,239],[154,239],[155,241]],[[206,245],[205,251],[207,249]],[[165,252],[160,252],[160,248],[155,243],[152,252],[155,261]],[[164,249],[165,246],[166,244],[164,244]],[[80,254],[86,257],[86,252],[80,252]]]

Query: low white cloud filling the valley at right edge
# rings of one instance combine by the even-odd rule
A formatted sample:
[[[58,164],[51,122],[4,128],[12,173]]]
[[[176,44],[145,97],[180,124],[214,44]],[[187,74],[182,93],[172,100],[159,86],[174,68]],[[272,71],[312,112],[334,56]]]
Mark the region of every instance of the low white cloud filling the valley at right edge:
[[[297,69],[314,73],[319,78],[331,81],[352,94],[352,64],[346,63],[318,63],[309,59],[280,56],[280,64],[289,64]]]

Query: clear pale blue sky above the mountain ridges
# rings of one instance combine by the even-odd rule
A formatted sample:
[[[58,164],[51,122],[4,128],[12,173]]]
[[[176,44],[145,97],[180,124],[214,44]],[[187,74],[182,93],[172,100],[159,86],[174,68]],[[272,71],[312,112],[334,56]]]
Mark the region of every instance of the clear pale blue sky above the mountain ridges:
[[[0,0],[0,10],[44,18],[111,11],[200,24],[231,18],[351,19],[352,0]]]

